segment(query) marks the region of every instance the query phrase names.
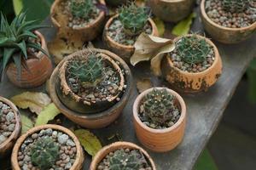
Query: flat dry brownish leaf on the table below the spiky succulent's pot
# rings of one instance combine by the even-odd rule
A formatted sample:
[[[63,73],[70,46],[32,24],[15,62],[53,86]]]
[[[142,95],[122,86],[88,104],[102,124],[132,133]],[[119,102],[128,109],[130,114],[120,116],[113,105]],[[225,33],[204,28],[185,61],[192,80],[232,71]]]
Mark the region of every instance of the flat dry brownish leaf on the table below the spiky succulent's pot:
[[[44,106],[49,105],[51,102],[51,99],[47,94],[38,92],[24,92],[22,94],[15,95],[10,100],[19,108],[29,108],[30,111],[36,114],[43,111]]]

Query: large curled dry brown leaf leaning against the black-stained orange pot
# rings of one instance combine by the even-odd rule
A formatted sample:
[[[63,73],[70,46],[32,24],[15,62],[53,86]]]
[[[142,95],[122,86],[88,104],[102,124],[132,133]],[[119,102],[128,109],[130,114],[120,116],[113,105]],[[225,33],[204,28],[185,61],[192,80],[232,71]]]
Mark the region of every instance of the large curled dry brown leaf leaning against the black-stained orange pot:
[[[131,65],[151,59],[151,70],[155,76],[160,76],[160,63],[163,56],[172,52],[175,48],[174,42],[170,39],[149,36],[142,33],[134,44],[135,51],[131,56]]]

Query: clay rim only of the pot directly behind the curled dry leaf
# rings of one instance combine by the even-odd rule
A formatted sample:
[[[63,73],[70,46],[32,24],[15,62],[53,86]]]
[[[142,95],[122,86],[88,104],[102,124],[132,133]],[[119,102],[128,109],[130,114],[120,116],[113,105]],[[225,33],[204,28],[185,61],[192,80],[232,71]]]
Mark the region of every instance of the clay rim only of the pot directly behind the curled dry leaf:
[[[117,47],[120,47],[120,48],[128,48],[128,49],[131,49],[133,50],[134,48],[134,45],[124,45],[124,44],[121,44],[119,42],[115,42],[113,41],[113,39],[111,37],[108,36],[108,28],[109,26],[112,24],[113,20],[116,19],[117,17],[119,16],[119,14],[115,14],[113,17],[111,17],[108,22],[106,23],[105,27],[104,27],[104,31],[106,31],[106,38],[109,42],[113,43],[115,46]],[[152,20],[151,18],[148,18],[148,22],[150,24],[150,26],[152,27],[152,32],[151,32],[151,36],[154,36],[154,35],[158,35],[158,30],[154,24],[154,20]]]

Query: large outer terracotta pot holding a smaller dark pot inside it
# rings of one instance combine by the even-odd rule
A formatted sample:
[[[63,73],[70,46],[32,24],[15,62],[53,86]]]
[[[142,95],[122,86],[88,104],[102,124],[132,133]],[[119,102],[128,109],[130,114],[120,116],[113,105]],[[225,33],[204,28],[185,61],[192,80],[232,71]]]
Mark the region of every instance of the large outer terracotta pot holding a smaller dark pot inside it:
[[[58,75],[59,75],[59,69],[61,68],[61,65],[64,63],[65,59],[61,61],[59,65],[55,68],[55,71],[53,72],[52,76],[49,80],[49,94],[55,105],[59,108],[61,113],[63,113],[67,118],[69,118],[71,121],[78,123],[82,127],[88,127],[88,128],[101,128],[108,126],[111,122],[116,120],[118,116],[120,115],[121,111],[124,109],[129,96],[131,94],[131,88],[132,88],[132,76],[131,71],[128,67],[128,65],[125,64],[125,61],[123,59],[120,59],[117,55],[102,49],[93,49],[96,52],[100,52],[102,54],[107,54],[108,56],[111,56],[112,59],[119,61],[119,66],[122,70],[125,70],[125,92],[122,94],[122,97],[120,98],[119,102],[115,103],[115,105],[111,106],[105,111],[100,111],[95,114],[88,114],[88,113],[79,113],[78,111],[73,111],[69,109],[66,105],[64,105],[61,102],[61,99],[58,97],[57,94],[57,88],[58,86]],[[78,53],[86,52],[86,49],[83,51],[80,51]]]

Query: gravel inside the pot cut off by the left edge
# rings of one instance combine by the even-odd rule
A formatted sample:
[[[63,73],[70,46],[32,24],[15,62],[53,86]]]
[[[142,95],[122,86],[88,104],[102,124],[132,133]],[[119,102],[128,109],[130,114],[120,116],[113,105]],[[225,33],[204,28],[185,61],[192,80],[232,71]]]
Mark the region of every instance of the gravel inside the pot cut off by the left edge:
[[[16,121],[15,111],[9,105],[0,101],[0,144],[3,144],[15,131]]]

